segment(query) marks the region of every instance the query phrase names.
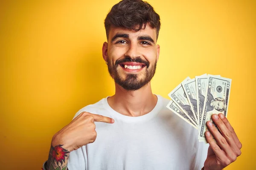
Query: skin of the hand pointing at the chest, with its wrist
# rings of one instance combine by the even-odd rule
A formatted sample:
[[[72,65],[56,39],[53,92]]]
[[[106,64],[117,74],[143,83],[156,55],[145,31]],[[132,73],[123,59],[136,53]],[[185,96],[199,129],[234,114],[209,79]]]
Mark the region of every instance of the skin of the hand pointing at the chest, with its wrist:
[[[109,117],[82,112],[73,119],[70,124],[55,133],[52,137],[49,158],[47,160],[47,170],[49,170],[51,166],[54,169],[58,167],[60,167],[61,170],[64,168],[67,169],[67,161],[70,152],[95,141],[97,133],[95,131],[96,126],[94,122],[113,123],[114,120]],[[56,154],[56,156],[53,154],[53,148],[56,146],[61,147],[61,149],[64,149],[66,152],[62,163],[56,161],[58,154]]]

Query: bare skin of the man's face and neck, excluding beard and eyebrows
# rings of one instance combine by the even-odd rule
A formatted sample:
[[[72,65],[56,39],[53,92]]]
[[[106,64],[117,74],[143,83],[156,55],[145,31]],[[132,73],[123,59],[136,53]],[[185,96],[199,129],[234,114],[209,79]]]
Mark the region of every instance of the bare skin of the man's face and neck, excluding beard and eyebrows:
[[[128,34],[129,37],[118,37],[111,42],[111,39],[116,34],[120,33]],[[115,63],[117,59],[125,57],[130,57],[131,59],[140,57],[149,62],[149,67],[153,67],[154,63],[158,61],[160,54],[160,46],[156,45],[156,35],[156,29],[152,29],[148,25],[145,29],[137,32],[123,28],[111,28],[108,42],[104,42],[102,47],[103,59]],[[151,37],[154,43],[147,40],[137,40],[140,36]],[[125,79],[126,74],[137,74],[138,79],[144,79],[145,69],[146,68],[131,72],[126,71],[121,66],[117,68],[122,79]],[[113,79],[115,79],[115,77],[113,77]],[[126,91],[117,83],[115,83],[115,87],[116,93],[108,97],[108,104],[118,113],[122,113],[126,116],[142,116],[150,112],[157,104],[157,96],[152,94],[150,82],[137,91]]]

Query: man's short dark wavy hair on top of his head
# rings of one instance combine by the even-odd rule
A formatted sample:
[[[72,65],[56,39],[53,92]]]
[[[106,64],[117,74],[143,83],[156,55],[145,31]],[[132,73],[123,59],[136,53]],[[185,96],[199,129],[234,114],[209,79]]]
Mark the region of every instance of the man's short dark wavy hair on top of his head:
[[[140,31],[147,23],[156,28],[158,38],[160,17],[154,8],[143,0],[122,0],[111,8],[105,19],[107,39],[111,26]]]

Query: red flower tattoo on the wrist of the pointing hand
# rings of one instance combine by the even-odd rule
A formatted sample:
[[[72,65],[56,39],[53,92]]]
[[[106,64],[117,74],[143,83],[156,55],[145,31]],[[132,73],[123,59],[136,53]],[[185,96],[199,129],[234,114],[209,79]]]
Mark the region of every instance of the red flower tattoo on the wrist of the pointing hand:
[[[65,150],[63,147],[61,147],[63,145],[58,145],[55,147],[52,147],[52,159],[53,161],[56,161],[56,163],[58,164],[58,162],[61,162],[61,165],[63,164],[63,162],[65,162],[65,156],[67,152],[67,150]],[[62,162],[63,161],[63,162]]]

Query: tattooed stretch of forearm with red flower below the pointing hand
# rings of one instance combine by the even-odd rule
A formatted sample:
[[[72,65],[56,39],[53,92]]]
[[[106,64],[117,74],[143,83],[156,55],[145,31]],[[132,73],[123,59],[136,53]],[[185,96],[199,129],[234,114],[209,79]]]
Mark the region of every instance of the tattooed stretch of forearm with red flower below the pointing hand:
[[[70,152],[62,146],[61,144],[55,147],[51,146],[47,161],[47,170],[67,170],[67,159]]]

